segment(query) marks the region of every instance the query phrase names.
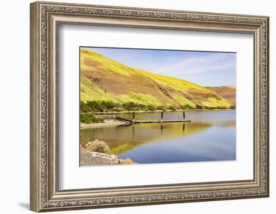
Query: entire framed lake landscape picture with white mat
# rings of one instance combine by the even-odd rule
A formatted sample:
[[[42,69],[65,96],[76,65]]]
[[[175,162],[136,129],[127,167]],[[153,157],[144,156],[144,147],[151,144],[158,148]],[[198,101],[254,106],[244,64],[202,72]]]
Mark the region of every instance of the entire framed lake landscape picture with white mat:
[[[31,4],[31,210],[268,197],[268,17]]]

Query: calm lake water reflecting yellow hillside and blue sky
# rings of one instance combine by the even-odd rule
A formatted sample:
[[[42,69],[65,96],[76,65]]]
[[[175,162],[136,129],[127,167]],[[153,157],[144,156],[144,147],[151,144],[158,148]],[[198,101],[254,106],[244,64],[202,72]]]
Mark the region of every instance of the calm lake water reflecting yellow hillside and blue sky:
[[[124,127],[85,128],[81,143],[101,139],[110,153],[138,163],[222,161],[236,159],[236,111],[186,111],[182,122]],[[132,119],[132,113],[118,113]],[[160,120],[161,112],[135,113],[136,120]],[[182,120],[181,111],[164,112],[164,120]]]

